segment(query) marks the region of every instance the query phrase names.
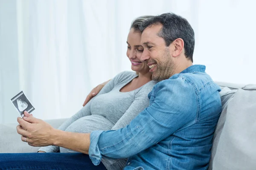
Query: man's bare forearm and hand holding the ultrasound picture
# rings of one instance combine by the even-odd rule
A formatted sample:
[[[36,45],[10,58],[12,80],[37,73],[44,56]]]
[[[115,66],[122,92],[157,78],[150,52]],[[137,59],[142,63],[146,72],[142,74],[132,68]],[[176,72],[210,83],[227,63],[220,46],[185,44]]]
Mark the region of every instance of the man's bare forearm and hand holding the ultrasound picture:
[[[36,119],[27,112],[24,112],[24,115],[24,120],[20,117],[17,118],[20,124],[17,126],[17,132],[21,135],[23,142],[28,142],[31,146],[55,145],[88,154],[90,133],[65,132],[54,129],[48,123]]]

